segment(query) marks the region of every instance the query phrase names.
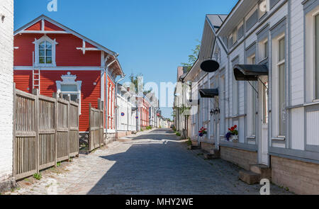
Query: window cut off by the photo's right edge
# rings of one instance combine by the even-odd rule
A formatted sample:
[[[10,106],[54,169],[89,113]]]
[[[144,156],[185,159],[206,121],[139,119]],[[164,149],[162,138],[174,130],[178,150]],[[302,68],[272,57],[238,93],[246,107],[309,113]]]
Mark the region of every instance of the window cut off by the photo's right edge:
[[[315,99],[319,99],[319,13],[315,15]]]

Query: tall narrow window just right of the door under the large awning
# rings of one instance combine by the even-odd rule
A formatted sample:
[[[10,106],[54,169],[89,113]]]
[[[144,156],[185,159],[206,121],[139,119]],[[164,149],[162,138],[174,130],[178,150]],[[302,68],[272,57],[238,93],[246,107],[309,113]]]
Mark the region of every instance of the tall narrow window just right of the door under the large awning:
[[[278,91],[279,91],[279,135],[286,135],[286,100],[285,100],[285,38],[280,38],[278,40]]]

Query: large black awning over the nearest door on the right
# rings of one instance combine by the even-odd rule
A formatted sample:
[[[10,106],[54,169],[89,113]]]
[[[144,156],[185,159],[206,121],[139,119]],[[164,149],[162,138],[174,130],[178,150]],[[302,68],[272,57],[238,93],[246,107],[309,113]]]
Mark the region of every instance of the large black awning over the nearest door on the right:
[[[266,64],[236,64],[234,67],[237,81],[257,81],[259,76],[267,76],[268,73]]]

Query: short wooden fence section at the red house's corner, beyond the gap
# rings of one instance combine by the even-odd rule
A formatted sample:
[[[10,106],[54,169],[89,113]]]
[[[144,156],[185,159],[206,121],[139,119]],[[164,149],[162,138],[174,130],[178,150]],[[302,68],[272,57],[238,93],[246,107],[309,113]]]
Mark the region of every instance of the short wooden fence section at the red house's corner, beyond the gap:
[[[89,152],[103,145],[103,102],[99,100],[99,108],[92,108],[89,103]]]

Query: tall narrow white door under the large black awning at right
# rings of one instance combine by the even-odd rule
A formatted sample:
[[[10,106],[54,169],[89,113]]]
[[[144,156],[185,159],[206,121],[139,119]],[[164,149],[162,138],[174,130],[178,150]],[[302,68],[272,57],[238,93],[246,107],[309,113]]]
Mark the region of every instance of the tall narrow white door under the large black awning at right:
[[[258,162],[269,165],[268,155],[268,77],[261,77],[258,86],[258,106],[259,106],[259,142],[258,142]]]

